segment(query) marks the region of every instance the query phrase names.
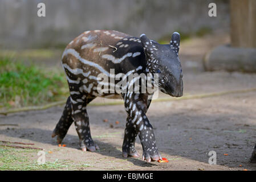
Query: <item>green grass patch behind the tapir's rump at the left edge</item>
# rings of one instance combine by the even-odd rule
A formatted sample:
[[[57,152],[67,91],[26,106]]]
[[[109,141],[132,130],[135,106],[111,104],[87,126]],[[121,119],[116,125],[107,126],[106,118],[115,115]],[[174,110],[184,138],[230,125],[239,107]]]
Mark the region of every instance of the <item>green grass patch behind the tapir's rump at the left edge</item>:
[[[57,101],[67,89],[64,71],[25,65],[10,57],[0,59],[0,103],[3,107]]]

